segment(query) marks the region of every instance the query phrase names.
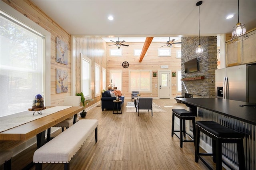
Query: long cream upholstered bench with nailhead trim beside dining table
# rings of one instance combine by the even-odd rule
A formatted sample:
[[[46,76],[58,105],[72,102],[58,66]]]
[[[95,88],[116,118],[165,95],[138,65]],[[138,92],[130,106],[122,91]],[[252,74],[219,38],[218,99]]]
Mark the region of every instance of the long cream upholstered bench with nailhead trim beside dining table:
[[[83,119],[64,130],[34,152],[36,170],[41,170],[43,163],[63,163],[64,169],[69,170],[70,160],[94,130],[97,142],[97,129],[98,120]]]

